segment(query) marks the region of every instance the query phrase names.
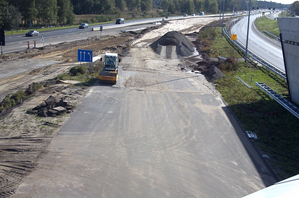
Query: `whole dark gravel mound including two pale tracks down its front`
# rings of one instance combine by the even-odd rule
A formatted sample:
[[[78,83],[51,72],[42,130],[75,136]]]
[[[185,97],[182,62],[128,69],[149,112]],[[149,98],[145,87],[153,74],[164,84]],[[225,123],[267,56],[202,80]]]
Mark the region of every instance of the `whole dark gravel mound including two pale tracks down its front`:
[[[177,31],[167,32],[149,46],[155,53],[166,58],[184,58],[194,53],[193,43]]]

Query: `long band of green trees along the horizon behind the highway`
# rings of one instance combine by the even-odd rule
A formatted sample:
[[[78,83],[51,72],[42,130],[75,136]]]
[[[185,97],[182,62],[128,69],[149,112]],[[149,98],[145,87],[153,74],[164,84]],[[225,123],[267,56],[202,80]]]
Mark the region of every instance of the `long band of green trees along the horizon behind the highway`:
[[[244,0],[226,0],[225,12],[240,9]],[[248,0],[245,1],[248,4]],[[279,6],[275,2],[254,1],[252,5]],[[244,2],[243,2],[244,3]],[[296,4],[297,5],[297,4]],[[281,6],[281,4],[280,4]],[[295,6],[295,4],[294,4]],[[294,7],[293,6],[293,7]],[[223,0],[0,0],[0,27],[4,29],[69,25],[75,23],[76,15],[117,14],[120,11],[149,13],[152,8],[162,9],[164,14],[193,14],[223,11]],[[100,16],[101,17],[101,16]],[[103,18],[103,17],[102,17]]]

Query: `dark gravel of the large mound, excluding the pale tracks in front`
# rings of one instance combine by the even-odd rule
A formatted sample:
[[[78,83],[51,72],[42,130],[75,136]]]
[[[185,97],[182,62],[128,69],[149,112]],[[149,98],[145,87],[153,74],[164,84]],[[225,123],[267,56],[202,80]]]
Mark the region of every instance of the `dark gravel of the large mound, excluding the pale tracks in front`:
[[[164,34],[161,38],[149,45],[157,54],[161,54],[162,46],[176,45],[176,54],[178,58],[184,58],[193,55],[194,45],[186,36],[178,31],[171,31]]]

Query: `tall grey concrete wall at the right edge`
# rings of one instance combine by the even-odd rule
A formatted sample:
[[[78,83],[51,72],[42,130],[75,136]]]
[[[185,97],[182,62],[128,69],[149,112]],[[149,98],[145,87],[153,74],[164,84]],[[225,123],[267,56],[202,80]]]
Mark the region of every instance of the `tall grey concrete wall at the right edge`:
[[[283,43],[292,101],[299,104],[299,17],[277,18]]]

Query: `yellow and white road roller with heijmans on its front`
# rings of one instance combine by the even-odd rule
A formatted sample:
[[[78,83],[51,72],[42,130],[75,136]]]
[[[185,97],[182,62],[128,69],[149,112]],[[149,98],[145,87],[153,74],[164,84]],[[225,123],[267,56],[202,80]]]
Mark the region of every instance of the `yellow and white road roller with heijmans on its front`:
[[[102,61],[102,57],[100,61]],[[103,70],[99,74],[100,83],[116,84],[118,79],[118,63],[120,59],[117,53],[105,53]]]

